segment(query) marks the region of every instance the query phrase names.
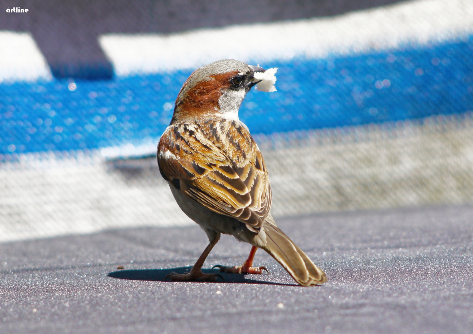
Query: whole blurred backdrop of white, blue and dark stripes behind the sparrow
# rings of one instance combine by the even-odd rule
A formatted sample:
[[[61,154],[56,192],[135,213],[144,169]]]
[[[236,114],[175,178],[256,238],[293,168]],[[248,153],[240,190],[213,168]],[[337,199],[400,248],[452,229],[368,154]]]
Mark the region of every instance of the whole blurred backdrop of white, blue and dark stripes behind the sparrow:
[[[471,1],[11,5],[0,0],[0,242],[193,224],[156,146],[186,78],[232,54],[279,68],[277,92],[252,90],[239,112],[276,219],[473,202]]]

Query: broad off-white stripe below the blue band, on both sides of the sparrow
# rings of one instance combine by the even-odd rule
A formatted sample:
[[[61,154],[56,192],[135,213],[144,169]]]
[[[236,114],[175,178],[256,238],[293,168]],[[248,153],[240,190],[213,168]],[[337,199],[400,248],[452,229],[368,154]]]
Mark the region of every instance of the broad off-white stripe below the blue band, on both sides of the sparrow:
[[[256,139],[276,218],[473,202],[471,112]],[[72,155],[20,154],[0,163],[0,242],[194,224],[155,157],[106,162],[96,151]]]

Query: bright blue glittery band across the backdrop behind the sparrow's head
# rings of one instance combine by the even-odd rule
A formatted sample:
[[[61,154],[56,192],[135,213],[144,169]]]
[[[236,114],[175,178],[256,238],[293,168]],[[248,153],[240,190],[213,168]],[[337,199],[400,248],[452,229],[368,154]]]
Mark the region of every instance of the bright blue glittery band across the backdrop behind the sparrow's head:
[[[279,67],[278,91],[247,94],[240,119],[254,134],[473,110],[473,36],[424,48],[261,65]],[[159,137],[191,72],[76,81],[75,91],[65,80],[1,84],[0,154]]]

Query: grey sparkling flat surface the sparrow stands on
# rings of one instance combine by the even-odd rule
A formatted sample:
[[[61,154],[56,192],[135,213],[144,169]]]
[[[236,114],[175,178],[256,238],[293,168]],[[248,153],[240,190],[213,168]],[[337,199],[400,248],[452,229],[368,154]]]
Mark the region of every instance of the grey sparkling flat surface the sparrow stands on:
[[[279,219],[327,274],[316,287],[294,285],[262,250],[255,263],[271,275],[164,281],[205,248],[197,226],[4,243],[0,333],[473,333],[472,216],[440,206]],[[205,267],[249,250],[223,236]]]

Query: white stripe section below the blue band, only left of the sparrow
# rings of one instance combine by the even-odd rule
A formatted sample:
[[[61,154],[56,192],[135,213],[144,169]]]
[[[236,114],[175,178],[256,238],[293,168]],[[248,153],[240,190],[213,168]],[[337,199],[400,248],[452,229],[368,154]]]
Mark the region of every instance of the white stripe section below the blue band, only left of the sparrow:
[[[120,162],[118,162],[120,163]],[[0,164],[0,242],[112,228],[195,224],[177,206],[156,158],[109,164],[98,154],[21,155]]]

